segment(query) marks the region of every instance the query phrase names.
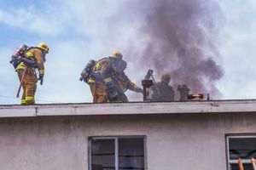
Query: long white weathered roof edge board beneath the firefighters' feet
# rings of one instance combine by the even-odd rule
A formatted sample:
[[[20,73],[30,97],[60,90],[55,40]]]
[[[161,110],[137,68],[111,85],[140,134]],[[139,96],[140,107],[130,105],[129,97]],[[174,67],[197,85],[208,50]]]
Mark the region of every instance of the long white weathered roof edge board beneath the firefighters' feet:
[[[256,99],[105,104],[0,105],[0,117],[255,112]]]

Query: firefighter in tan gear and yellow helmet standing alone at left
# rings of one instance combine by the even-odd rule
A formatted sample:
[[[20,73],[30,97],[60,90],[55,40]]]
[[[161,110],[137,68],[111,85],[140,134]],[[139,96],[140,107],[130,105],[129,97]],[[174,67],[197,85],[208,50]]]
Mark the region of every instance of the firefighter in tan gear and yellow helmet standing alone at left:
[[[35,93],[37,90],[37,82],[43,85],[44,81],[44,62],[46,61],[45,55],[49,53],[49,48],[46,43],[40,42],[37,47],[29,48],[24,54],[25,59],[29,59],[35,62],[35,65],[28,65],[25,61],[21,61],[16,67],[18,77],[20,79],[21,86],[23,88],[23,94],[21,98],[21,105],[34,105]],[[37,77],[35,70],[38,70],[39,75]],[[21,77],[24,75],[24,79],[21,82]]]

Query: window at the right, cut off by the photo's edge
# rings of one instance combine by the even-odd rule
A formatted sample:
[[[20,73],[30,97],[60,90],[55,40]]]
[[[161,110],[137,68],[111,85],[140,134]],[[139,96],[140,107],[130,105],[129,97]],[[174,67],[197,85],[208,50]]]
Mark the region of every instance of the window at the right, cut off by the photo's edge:
[[[253,170],[251,158],[256,158],[256,135],[227,136],[227,151],[229,170],[239,170],[238,158],[245,170]]]

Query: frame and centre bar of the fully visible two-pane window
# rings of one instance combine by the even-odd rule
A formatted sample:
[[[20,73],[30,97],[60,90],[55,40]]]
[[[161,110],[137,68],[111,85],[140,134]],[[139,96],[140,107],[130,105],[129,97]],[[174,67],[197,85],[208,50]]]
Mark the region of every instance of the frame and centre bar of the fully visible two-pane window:
[[[114,165],[115,170],[119,170],[119,139],[143,139],[144,169],[147,170],[147,151],[145,135],[125,135],[125,136],[90,136],[88,138],[88,169],[91,170],[91,139],[114,139]]]

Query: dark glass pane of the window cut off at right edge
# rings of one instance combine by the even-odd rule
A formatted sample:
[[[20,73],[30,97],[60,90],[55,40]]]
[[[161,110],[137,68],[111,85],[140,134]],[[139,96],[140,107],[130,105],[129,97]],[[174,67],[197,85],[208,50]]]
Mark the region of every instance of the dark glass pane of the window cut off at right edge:
[[[230,138],[230,160],[256,157],[256,138]]]

